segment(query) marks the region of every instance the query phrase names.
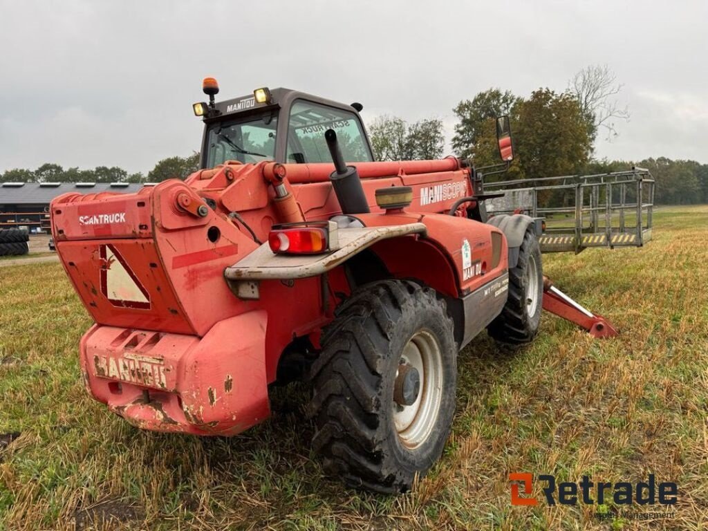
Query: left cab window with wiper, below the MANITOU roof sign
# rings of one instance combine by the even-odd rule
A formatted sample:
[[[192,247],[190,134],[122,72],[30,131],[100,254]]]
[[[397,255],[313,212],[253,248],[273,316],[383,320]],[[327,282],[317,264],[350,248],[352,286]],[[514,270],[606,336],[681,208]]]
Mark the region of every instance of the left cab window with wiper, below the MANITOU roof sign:
[[[268,113],[210,125],[206,167],[213,168],[233,160],[244,163],[274,160],[277,122],[277,115]]]

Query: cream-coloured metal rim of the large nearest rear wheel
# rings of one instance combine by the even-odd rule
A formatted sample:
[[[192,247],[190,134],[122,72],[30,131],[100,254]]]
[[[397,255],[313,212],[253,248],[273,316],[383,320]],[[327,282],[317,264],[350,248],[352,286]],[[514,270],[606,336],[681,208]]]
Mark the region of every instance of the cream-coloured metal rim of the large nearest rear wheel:
[[[440,344],[432,333],[416,333],[401,353],[400,365],[414,367],[421,379],[416,401],[410,406],[394,404],[394,423],[399,439],[405,447],[423,444],[435,428],[442,402],[442,354]],[[396,378],[399,372],[396,371]]]

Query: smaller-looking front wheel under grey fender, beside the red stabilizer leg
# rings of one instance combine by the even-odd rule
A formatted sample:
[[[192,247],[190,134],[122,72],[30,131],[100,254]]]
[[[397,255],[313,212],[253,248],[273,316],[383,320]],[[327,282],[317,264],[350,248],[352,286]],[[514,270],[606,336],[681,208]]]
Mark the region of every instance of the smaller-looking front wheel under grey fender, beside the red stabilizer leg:
[[[504,309],[487,327],[501,343],[528,343],[538,333],[543,298],[543,269],[538,239],[527,231],[519,249],[519,260],[509,270],[509,291]]]

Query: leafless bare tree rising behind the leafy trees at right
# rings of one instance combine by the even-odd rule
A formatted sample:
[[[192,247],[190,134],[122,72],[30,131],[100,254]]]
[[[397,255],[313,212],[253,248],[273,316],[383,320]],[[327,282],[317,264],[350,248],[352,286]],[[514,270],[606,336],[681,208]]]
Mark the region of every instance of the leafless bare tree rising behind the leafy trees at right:
[[[611,141],[618,135],[615,120],[629,120],[629,108],[621,108],[613,97],[622,86],[607,64],[586,67],[571,79],[569,91],[578,99],[593,138],[602,128],[607,132],[605,139]]]

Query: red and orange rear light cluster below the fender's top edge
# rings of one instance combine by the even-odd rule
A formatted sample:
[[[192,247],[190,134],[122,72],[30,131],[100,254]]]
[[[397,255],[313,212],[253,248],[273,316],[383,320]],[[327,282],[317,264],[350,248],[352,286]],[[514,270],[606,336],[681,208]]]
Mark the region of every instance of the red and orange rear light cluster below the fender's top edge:
[[[336,224],[333,225],[336,227]],[[274,225],[268,234],[270,250],[278,254],[326,253],[334,250],[331,244],[329,222]]]

